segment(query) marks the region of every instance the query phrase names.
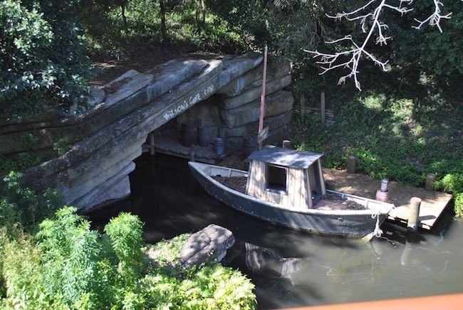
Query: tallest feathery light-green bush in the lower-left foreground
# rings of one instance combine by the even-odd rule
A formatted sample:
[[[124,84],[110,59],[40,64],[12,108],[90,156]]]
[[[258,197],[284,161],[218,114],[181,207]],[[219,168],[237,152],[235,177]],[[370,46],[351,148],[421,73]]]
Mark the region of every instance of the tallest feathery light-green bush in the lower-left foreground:
[[[88,294],[88,302],[97,304],[101,247],[98,232],[90,230],[88,220],[76,215],[75,208],[62,208],[56,218],[41,223],[36,240],[43,269],[36,278],[43,283],[43,294],[68,306],[80,303],[83,294]]]

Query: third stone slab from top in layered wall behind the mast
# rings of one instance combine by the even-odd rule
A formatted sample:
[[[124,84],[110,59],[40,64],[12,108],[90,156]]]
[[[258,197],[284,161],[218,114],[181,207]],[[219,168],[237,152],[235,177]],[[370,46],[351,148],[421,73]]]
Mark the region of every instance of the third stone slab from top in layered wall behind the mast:
[[[294,98],[291,92],[281,90],[266,96],[265,117],[282,114],[293,109]],[[256,122],[260,114],[260,100],[254,100],[246,105],[241,105],[235,109],[221,110],[220,114],[224,124],[228,128],[243,126],[251,122]]]

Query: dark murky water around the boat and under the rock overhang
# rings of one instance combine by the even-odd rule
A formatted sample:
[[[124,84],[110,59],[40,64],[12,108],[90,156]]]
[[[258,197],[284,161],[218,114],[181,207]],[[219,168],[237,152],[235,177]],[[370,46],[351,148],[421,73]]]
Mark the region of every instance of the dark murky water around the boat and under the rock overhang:
[[[236,237],[223,264],[256,284],[259,308],[463,292],[463,225],[444,221],[434,234],[406,242],[400,230],[367,244],[320,237],[249,218],[205,193],[186,160],[142,156],[130,175],[130,199],[93,212],[104,225],[120,211],[145,223],[147,242],[194,232],[210,223]]]

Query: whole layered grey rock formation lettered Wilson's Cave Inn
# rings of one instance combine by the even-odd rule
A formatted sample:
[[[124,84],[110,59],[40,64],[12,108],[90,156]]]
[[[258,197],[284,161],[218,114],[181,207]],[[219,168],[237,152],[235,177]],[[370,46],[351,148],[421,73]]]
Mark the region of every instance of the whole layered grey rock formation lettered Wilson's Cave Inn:
[[[208,126],[222,130],[229,145],[239,146],[259,117],[261,62],[261,55],[248,53],[172,60],[145,73],[130,70],[93,90],[85,112],[0,120],[0,155],[30,149],[26,134],[38,137],[42,154],[66,139],[71,149],[28,169],[27,185],[37,191],[56,188],[65,203],[81,209],[124,198],[130,194],[132,161],[142,153],[147,134],[172,119],[199,115]],[[281,90],[291,82],[289,69],[288,63],[269,63],[266,124],[271,132],[291,119],[293,97]],[[215,99],[207,101],[212,95]],[[206,109],[194,107],[198,102],[207,102]]]

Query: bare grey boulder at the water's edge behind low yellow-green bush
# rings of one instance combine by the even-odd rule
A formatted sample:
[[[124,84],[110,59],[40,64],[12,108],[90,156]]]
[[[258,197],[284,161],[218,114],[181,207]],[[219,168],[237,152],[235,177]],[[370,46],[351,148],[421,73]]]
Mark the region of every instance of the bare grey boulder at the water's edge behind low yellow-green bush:
[[[189,267],[210,261],[220,262],[234,242],[230,230],[211,224],[195,232],[184,242],[180,250],[180,263]]]

